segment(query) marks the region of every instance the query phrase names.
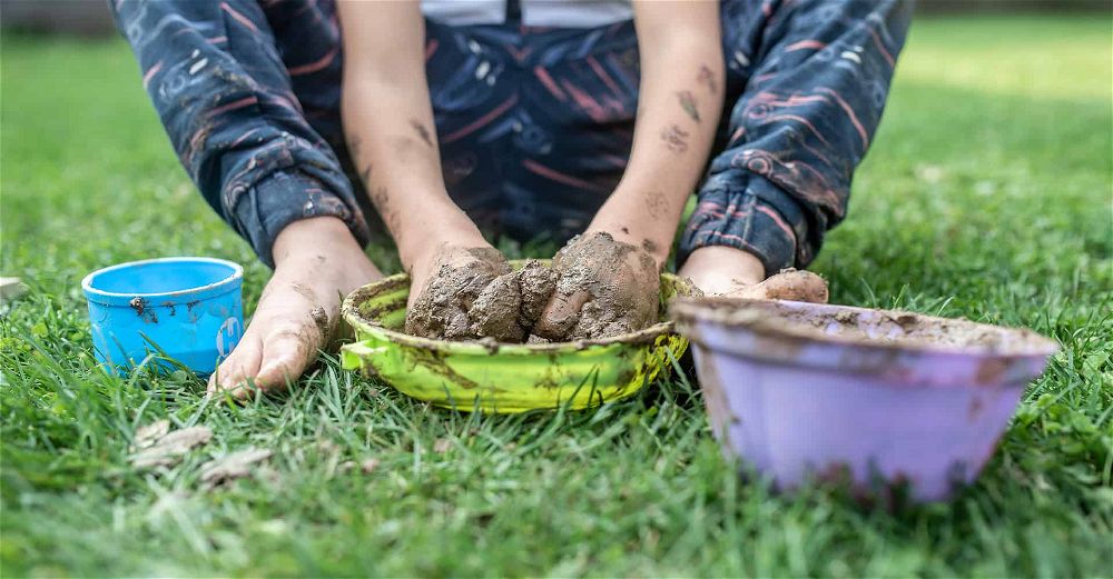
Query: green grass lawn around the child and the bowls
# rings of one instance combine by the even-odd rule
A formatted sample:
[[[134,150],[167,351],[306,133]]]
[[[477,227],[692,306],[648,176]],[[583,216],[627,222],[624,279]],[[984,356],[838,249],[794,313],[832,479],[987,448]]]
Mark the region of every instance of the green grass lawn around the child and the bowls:
[[[1063,351],[976,486],[888,511],[739,482],[682,379],[508,418],[334,361],[243,407],[187,376],[106,378],[86,272],[229,258],[252,305],[267,270],[193,191],[121,42],[6,34],[0,251],[31,291],[0,318],[2,575],[1110,576],[1111,42],[1107,16],[914,24],[815,269],[836,302],[1026,326]],[[164,417],[215,437],[134,470],[135,429]],[[246,446],[274,450],[266,471],[204,490],[200,465]]]

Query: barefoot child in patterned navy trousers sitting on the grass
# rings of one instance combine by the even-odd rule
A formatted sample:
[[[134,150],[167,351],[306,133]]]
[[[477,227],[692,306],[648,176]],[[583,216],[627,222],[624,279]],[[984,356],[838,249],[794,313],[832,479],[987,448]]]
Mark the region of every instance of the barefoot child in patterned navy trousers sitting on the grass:
[[[824,299],[814,276],[774,274],[809,263],[844,218],[910,6],[116,0],[114,12],[183,164],[275,268],[210,382],[243,396],[313,361],[339,296],[381,276],[363,247],[384,229],[421,289],[412,305],[500,267],[483,230],[584,232],[562,250],[584,264],[538,322],[559,336],[598,288],[629,303],[656,292],[695,190],[681,276],[712,295]],[[465,303],[441,306],[443,320]],[[637,321],[623,315],[611,321]]]

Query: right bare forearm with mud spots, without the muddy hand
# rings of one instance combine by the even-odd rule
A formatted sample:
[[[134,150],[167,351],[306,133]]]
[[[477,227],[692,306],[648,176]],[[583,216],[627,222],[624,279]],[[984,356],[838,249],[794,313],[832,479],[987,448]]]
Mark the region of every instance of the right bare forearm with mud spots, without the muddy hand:
[[[662,26],[672,3],[654,4],[636,12],[642,76],[630,160],[592,228],[629,231],[663,263],[715,138],[723,64],[716,2],[673,12],[686,14],[677,26]]]

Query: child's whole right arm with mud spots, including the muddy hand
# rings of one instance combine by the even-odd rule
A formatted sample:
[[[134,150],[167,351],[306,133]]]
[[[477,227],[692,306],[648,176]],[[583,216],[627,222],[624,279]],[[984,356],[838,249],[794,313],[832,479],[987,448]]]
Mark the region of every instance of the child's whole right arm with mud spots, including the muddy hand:
[[[725,89],[719,2],[636,1],[634,27],[641,84],[633,149],[587,234],[553,261],[562,282],[534,328],[544,338],[578,328],[591,301],[589,317],[612,328],[656,319],[658,273],[715,139]],[[633,248],[600,243],[598,232]],[[579,263],[565,263],[572,257]]]

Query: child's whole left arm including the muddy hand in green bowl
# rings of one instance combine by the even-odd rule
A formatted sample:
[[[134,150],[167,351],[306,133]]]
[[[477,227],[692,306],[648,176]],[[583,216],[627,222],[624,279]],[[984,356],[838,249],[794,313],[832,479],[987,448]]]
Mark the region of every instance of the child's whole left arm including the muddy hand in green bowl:
[[[410,272],[410,311],[426,301],[440,303],[424,318],[407,319],[407,331],[457,337],[443,325],[467,319],[469,293],[461,283],[484,286],[505,259],[445,188],[420,4],[342,1],[338,13],[345,60],[341,113],[352,160]],[[454,270],[467,274],[449,274]],[[444,305],[436,296],[453,298]]]

